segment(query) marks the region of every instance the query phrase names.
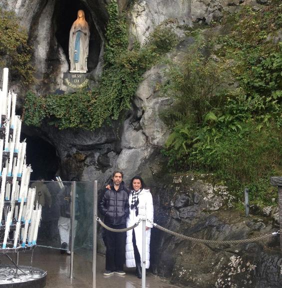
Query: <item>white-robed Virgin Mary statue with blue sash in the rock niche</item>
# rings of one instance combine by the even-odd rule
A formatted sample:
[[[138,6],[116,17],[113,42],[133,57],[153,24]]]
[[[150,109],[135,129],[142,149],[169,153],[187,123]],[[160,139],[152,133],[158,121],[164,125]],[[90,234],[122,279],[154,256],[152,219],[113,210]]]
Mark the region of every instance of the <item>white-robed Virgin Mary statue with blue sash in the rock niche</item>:
[[[85,20],[83,10],[77,11],[77,19],[69,32],[68,53],[70,73],[86,73],[89,45],[89,25]]]

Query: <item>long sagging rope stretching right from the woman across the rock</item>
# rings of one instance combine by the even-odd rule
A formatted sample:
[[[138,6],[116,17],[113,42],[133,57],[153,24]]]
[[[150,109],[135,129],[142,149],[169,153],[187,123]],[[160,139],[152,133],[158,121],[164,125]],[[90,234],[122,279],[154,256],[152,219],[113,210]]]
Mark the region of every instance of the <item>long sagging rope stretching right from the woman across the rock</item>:
[[[179,238],[185,239],[185,240],[191,240],[191,241],[195,241],[198,243],[204,243],[204,244],[239,244],[239,243],[250,243],[250,242],[256,242],[258,240],[263,240],[263,239],[268,239],[276,234],[279,234],[280,231],[278,232],[273,232],[271,234],[265,234],[265,235],[261,235],[255,238],[248,238],[248,239],[239,239],[239,240],[207,240],[207,239],[199,239],[199,238],[194,238],[194,237],[189,237],[180,233],[176,233],[173,232],[167,228],[164,228],[156,223],[152,223],[154,225],[154,227],[167,232],[171,235],[177,236]]]

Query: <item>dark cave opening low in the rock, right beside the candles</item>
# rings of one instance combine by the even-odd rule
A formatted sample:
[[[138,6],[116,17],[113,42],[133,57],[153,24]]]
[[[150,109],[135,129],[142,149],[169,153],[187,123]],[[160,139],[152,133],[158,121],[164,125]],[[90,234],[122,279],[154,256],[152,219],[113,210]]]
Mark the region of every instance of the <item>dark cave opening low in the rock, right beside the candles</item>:
[[[30,180],[35,181],[39,177],[46,181],[54,179],[59,168],[55,147],[37,136],[21,136],[26,138],[26,164],[32,167]]]

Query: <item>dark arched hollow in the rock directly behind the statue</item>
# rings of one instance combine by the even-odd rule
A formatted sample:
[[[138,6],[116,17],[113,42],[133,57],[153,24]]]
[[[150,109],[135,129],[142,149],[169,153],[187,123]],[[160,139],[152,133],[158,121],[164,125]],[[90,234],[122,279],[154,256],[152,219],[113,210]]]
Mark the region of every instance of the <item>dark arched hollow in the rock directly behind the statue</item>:
[[[77,11],[82,9],[90,27],[89,51],[87,58],[88,72],[91,72],[99,60],[101,50],[101,36],[96,28],[94,13],[79,0],[59,0],[54,8],[54,22],[56,39],[61,45],[69,63],[68,40],[72,23],[77,19]]]

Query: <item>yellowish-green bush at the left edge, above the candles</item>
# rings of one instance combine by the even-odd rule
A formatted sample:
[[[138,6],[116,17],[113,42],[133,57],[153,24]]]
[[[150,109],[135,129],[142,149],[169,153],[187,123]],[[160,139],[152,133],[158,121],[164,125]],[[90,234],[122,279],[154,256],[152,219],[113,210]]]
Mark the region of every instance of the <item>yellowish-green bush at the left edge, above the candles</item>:
[[[33,80],[32,48],[27,33],[14,12],[0,7],[0,65],[9,66],[12,77],[20,77],[27,84]]]

